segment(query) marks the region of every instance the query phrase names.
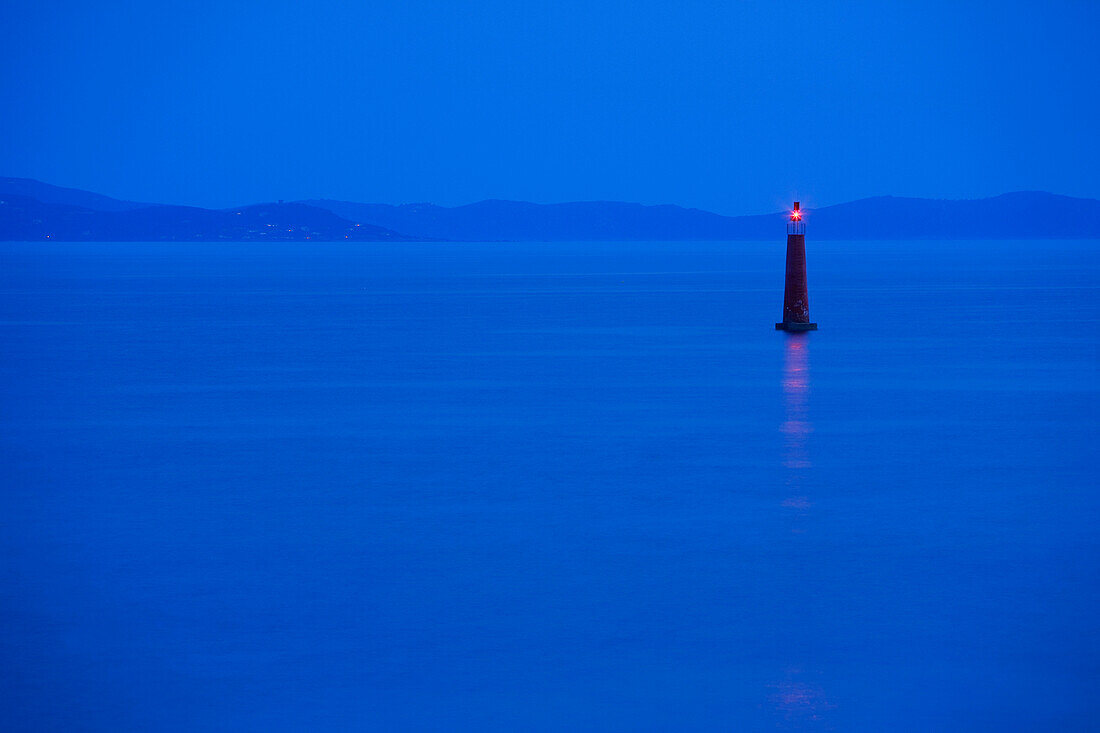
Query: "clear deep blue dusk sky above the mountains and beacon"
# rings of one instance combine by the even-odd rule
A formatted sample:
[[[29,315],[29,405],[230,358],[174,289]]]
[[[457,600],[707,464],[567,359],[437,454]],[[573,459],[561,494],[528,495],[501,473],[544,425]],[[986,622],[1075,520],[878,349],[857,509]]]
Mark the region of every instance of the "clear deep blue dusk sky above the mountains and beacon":
[[[200,206],[1100,197],[1100,2],[0,3],[0,175]]]

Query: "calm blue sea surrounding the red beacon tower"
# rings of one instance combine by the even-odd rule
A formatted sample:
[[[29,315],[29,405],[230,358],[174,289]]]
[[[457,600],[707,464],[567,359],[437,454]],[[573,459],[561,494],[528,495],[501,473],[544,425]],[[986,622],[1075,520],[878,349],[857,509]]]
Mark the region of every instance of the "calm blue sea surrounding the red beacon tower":
[[[0,245],[4,731],[1068,731],[1098,242]]]

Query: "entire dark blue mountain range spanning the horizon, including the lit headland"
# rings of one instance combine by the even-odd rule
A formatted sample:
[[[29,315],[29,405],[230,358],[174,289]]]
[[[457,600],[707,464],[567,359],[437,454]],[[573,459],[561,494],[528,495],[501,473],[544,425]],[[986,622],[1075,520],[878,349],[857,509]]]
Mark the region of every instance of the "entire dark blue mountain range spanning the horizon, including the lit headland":
[[[202,209],[0,178],[0,240],[765,240],[782,236],[784,219],[620,201],[443,207],[317,199]],[[974,200],[880,196],[809,209],[806,221],[815,239],[1100,239],[1100,200],[1043,192]]]

